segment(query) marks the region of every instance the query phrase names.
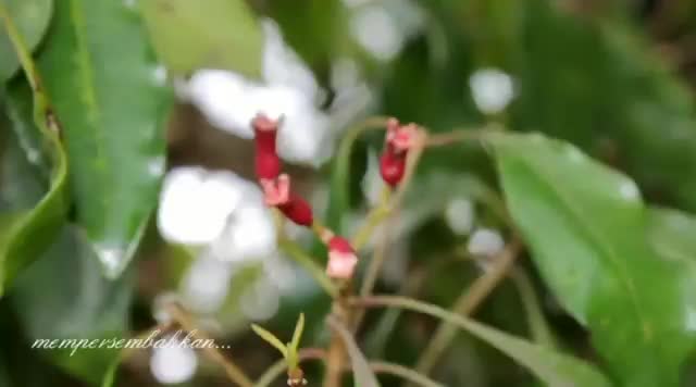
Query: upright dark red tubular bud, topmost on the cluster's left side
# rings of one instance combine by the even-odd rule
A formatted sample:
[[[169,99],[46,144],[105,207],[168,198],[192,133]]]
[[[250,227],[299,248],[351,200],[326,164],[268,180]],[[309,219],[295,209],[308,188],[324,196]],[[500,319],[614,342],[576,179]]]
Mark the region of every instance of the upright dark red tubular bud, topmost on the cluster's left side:
[[[258,114],[251,126],[256,142],[256,172],[259,179],[274,179],[283,167],[275,149],[278,123],[263,114]]]

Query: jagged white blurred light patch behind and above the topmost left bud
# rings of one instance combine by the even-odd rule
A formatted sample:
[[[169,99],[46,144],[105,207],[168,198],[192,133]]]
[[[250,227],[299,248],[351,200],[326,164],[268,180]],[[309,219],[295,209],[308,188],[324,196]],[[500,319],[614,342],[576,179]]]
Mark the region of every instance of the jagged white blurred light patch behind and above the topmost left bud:
[[[249,125],[259,113],[277,118],[282,158],[298,163],[321,164],[331,155],[331,120],[318,108],[320,88],[312,72],[283,41],[277,25],[263,23],[265,45],[263,82],[222,70],[202,70],[177,84],[177,95],[194,103],[215,127],[250,139]]]

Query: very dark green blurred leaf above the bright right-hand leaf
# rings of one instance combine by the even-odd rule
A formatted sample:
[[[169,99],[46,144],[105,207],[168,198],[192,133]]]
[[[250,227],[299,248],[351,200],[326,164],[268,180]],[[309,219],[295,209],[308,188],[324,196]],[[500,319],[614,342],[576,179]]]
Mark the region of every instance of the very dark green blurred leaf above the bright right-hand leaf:
[[[521,90],[510,126],[572,141],[621,165],[649,197],[695,211],[696,111],[670,55],[625,14],[585,17],[548,0],[523,11],[518,51],[507,53]]]

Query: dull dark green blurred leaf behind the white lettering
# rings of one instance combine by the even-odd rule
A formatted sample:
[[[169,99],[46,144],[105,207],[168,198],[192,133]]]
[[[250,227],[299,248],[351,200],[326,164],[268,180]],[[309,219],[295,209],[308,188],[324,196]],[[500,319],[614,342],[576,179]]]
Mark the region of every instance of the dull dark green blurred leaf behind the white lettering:
[[[29,342],[36,339],[121,339],[128,326],[135,272],[109,280],[89,242],[73,226],[18,278],[9,299]],[[40,284],[40,286],[37,286]],[[50,291],[47,291],[50,289]],[[76,344],[75,344],[76,346]],[[116,348],[35,349],[73,375],[102,382]]]

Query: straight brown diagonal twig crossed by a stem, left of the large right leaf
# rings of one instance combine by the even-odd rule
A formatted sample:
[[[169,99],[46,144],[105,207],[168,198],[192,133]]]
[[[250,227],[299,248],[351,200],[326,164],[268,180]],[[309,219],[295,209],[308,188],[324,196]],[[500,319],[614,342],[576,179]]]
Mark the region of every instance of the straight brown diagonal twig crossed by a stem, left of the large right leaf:
[[[484,275],[476,278],[476,280],[459,296],[451,309],[452,312],[461,316],[468,316],[473,313],[493,289],[498,286],[502,278],[507,276],[520,249],[520,240],[517,238],[512,239],[506,249],[495,259],[494,266]],[[430,340],[427,347],[425,347],[425,350],[422,352],[415,370],[423,375],[427,375],[456,334],[457,327],[455,325],[443,322],[435,332],[433,339]]]

